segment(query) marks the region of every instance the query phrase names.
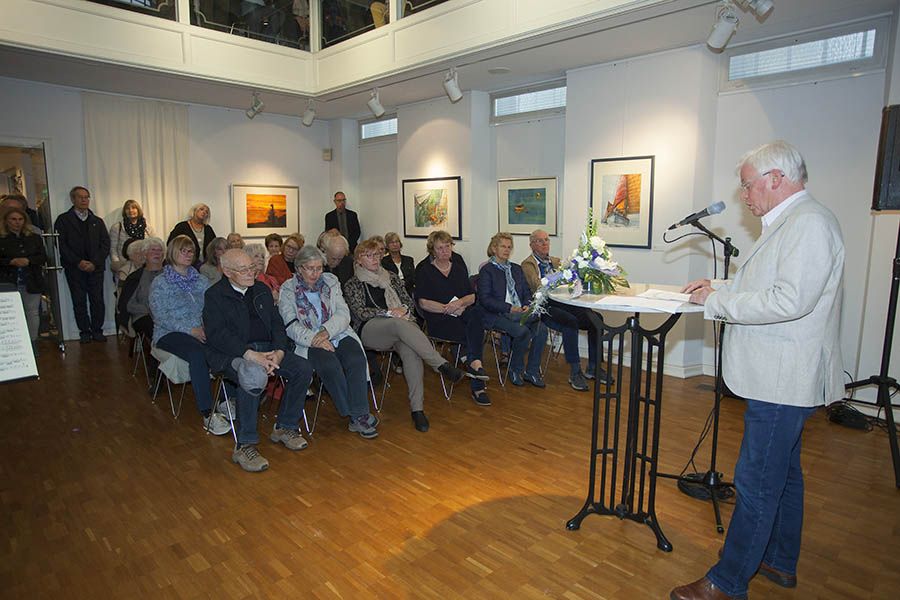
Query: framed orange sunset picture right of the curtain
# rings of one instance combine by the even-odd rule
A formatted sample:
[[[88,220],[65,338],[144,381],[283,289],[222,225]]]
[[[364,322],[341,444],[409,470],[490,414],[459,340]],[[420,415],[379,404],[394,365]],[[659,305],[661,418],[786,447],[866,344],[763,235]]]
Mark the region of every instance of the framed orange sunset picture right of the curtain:
[[[241,237],[290,235],[300,227],[300,188],[232,184],[231,214],[232,231]]]

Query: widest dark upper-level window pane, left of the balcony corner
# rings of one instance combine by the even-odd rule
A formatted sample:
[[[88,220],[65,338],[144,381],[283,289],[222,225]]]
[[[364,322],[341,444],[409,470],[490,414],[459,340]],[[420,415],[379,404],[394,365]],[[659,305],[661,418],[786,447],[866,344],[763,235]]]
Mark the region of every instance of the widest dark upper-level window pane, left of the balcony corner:
[[[309,50],[309,0],[190,0],[190,3],[191,25]]]

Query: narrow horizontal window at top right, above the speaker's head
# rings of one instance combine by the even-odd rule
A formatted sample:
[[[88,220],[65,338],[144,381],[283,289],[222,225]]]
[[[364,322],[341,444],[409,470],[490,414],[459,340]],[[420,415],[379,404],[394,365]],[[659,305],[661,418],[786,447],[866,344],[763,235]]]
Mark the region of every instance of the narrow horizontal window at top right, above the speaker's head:
[[[882,68],[886,21],[818,31],[726,53],[723,89],[840,77]]]

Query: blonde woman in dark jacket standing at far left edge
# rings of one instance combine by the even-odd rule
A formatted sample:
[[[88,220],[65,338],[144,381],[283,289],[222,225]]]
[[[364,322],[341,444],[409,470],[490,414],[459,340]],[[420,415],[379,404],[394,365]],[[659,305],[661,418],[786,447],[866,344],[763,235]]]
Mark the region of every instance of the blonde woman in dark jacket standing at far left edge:
[[[0,211],[0,283],[13,285],[19,291],[34,346],[44,292],[41,267],[47,262],[47,254],[44,240],[30,225],[28,213],[19,206],[9,204]]]

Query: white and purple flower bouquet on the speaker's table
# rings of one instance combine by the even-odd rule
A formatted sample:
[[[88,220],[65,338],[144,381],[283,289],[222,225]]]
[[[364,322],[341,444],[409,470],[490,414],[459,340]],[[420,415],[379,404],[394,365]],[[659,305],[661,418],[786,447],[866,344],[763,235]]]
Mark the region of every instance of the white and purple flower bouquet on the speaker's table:
[[[522,313],[522,323],[534,314],[547,312],[545,305],[551,290],[568,285],[576,297],[582,293],[612,294],[617,287],[628,287],[626,275],[612,259],[606,242],[597,235],[593,211],[588,209],[587,227],[581,234],[581,242],[567,263],[561,263],[559,270],[541,278],[541,287],[534,292],[528,310]]]

